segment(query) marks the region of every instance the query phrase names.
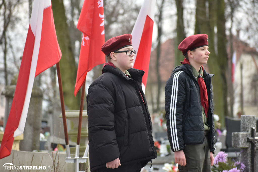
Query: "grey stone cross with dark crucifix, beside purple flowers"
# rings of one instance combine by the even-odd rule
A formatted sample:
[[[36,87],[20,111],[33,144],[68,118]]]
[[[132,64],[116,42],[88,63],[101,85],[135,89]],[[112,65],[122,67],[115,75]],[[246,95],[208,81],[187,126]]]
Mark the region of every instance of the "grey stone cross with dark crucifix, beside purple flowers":
[[[252,135],[253,128],[253,135]],[[258,158],[256,157],[256,148],[258,144],[255,141],[258,133],[256,131],[256,118],[254,115],[241,115],[241,132],[232,133],[232,147],[241,148],[239,161],[246,166],[246,172],[256,171]],[[252,150],[253,145],[253,150]],[[253,155],[253,157],[252,157]],[[253,161],[253,162],[252,162]]]

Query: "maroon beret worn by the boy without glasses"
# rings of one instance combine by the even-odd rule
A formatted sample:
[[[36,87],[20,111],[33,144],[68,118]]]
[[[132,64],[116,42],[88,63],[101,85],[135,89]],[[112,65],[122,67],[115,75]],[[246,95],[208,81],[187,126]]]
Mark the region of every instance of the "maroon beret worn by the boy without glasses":
[[[191,35],[185,38],[178,46],[178,49],[182,51],[183,55],[187,54],[187,51],[194,50],[199,47],[203,47],[208,45],[208,35],[206,34],[198,34]]]

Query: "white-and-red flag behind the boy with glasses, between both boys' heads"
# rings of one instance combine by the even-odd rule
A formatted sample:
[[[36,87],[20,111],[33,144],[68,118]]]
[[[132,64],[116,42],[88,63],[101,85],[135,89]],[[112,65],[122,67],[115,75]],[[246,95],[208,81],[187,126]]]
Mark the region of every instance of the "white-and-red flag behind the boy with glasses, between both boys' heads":
[[[136,50],[133,68],[143,70],[142,89],[145,92],[152,43],[156,0],[144,0],[132,31],[133,48]]]

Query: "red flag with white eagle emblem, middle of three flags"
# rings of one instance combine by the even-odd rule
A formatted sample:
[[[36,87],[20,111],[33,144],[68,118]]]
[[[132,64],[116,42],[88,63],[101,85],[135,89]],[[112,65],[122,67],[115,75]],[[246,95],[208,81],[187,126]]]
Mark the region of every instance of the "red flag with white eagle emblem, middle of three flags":
[[[82,87],[87,72],[96,65],[105,63],[105,54],[101,51],[105,43],[103,0],[84,1],[77,29],[83,33],[83,36],[74,96]]]

